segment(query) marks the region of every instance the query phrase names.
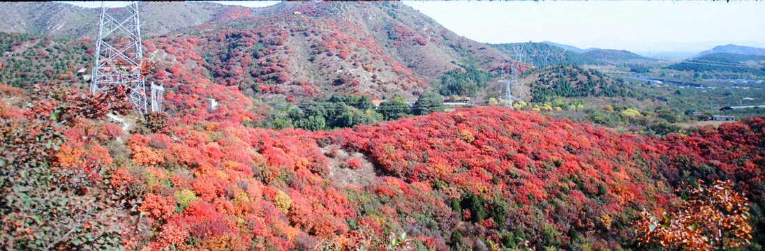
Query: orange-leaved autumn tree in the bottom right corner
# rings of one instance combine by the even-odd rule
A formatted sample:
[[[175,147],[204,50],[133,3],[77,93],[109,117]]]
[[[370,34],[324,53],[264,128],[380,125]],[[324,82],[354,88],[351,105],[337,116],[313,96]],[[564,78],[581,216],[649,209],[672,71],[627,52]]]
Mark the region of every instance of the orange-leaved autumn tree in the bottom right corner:
[[[699,181],[702,184],[702,181]],[[749,244],[752,227],[749,200],[733,191],[731,181],[687,187],[688,200],[672,212],[646,210],[636,222],[641,246],[656,244],[672,250],[724,250]]]

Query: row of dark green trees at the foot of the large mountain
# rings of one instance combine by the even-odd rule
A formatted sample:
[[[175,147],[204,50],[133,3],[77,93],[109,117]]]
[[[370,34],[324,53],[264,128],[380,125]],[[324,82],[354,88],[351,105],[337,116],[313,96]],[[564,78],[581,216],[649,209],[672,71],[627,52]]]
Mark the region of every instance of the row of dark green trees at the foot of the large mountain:
[[[269,118],[260,122],[258,127],[317,131],[444,112],[444,97],[438,93],[423,93],[410,107],[405,103],[404,96],[396,94],[375,106],[366,95],[334,93],[329,99],[303,99],[297,105],[284,100],[269,105],[272,107]]]

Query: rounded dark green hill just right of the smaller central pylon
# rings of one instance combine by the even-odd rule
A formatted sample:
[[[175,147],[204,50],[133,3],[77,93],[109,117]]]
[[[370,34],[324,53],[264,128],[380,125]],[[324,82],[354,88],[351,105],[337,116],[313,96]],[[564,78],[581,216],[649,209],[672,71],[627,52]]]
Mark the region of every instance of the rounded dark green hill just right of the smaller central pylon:
[[[524,73],[530,83],[532,102],[546,102],[555,97],[635,96],[622,79],[607,77],[597,70],[585,70],[571,64],[556,64]]]

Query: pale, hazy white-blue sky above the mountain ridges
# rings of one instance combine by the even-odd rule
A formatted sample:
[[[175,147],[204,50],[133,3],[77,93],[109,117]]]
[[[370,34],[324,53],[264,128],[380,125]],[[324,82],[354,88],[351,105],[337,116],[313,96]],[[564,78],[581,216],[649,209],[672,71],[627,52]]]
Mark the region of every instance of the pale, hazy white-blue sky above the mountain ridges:
[[[278,1],[222,4],[257,8]],[[101,2],[68,2],[97,8]],[[127,2],[106,2],[107,7]],[[405,1],[445,28],[484,43],[553,41],[643,54],[704,51],[715,45],[765,47],[765,2]]]

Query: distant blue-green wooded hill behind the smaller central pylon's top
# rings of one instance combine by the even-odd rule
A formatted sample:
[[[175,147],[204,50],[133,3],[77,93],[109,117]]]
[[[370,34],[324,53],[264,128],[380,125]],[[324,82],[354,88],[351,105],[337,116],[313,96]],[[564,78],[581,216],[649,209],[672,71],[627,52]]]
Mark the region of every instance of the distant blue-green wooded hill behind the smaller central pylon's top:
[[[605,64],[600,60],[585,56],[584,54],[547,43],[529,42],[489,45],[508,55],[513,55],[513,47],[522,47],[524,54],[523,60],[533,64],[535,67],[545,67],[549,64]]]

